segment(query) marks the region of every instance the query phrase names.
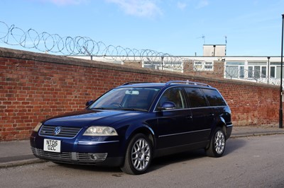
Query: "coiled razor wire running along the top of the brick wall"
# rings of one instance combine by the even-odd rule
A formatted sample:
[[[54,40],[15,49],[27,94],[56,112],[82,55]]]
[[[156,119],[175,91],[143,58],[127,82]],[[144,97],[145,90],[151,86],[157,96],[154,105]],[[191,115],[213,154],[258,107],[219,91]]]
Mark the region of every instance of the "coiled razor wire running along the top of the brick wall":
[[[143,61],[144,64],[155,67],[155,69],[174,69],[184,71],[183,67],[185,59],[175,57],[168,53],[157,52],[152,49],[130,49],[121,46],[106,45],[102,41],[95,41],[89,37],[61,37],[58,34],[50,34],[47,32],[38,33],[30,28],[23,30],[16,25],[7,25],[0,20],[0,42],[6,45],[21,46],[26,49],[36,49],[39,52],[48,52],[53,54],[62,54],[66,56],[91,56],[102,57],[109,61]],[[188,60],[188,59],[187,59]],[[214,68],[213,74],[218,74],[218,70]],[[220,68],[221,69],[221,68]],[[194,68],[195,74],[204,71]],[[251,73],[244,70],[244,75],[239,75],[239,70],[225,69],[225,78],[256,81],[258,83],[270,83],[279,85],[280,79],[268,78],[261,72],[254,71]],[[246,75],[246,76],[245,76]]]

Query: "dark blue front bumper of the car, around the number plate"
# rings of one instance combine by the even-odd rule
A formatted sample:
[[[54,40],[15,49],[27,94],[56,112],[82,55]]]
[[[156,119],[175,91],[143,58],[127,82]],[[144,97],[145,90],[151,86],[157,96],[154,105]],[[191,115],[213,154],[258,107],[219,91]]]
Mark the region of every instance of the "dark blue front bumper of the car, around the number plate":
[[[44,151],[44,139],[61,141],[60,152]],[[55,163],[78,165],[120,166],[124,161],[124,152],[117,140],[100,140],[98,138],[58,138],[53,136],[38,136],[36,132],[30,137],[31,150],[37,158]]]

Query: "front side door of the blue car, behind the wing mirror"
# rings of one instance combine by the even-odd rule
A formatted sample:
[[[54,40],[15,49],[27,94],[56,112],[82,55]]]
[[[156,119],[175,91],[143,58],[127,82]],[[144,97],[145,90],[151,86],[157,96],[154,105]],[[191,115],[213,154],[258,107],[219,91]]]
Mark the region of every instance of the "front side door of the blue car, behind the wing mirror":
[[[184,91],[180,87],[168,88],[158,101],[157,108],[162,106],[163,102],[174,102],[176,107],[173,110],[157,112],[157,148],[173,148],[187,144],[192,114],[187,107]]]

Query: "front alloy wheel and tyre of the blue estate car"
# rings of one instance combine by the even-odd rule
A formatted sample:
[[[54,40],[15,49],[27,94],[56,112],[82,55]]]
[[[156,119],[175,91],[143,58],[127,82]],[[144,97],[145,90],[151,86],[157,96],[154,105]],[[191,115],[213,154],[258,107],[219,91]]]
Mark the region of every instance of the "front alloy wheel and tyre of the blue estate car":
[[[145,173],[153,158],[153,146],[144,134],[136,134],[129,142],[121,170],[130,175]]]

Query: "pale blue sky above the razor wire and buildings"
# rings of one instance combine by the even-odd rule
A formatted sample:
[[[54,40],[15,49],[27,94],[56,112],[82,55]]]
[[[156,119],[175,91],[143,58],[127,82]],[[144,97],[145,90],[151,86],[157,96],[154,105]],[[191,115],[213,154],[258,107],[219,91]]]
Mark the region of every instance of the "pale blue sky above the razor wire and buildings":
[[[6,25],[105,45],[201,56],[202,45],[224,45],[226,37],[228,56],[281,54],[284,0],[1,0],[0,7]],[[0,37],[5,32],[0,25]],[[17,48],[1,40],[0,47]]]

